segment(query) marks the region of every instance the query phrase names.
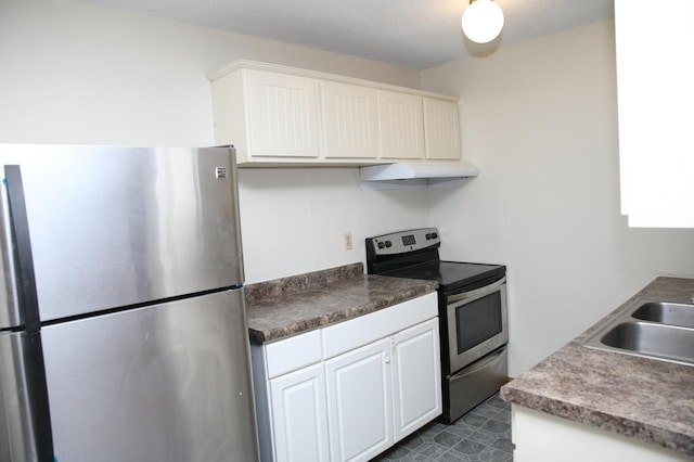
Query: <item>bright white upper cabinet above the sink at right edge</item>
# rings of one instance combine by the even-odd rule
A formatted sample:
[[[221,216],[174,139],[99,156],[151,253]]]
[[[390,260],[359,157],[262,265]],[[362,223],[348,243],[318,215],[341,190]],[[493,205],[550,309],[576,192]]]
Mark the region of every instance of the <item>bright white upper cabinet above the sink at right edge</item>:
[[[615,0],[621,213],[694,228],[694,1]]]

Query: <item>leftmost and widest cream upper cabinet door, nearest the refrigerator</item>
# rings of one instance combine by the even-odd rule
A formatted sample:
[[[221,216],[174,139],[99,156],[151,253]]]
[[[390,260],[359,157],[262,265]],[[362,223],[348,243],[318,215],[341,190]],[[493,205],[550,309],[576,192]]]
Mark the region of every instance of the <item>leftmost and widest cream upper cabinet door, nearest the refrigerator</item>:
[[[248,134],[253,157],[318,157],[318,84],[248,70]]]

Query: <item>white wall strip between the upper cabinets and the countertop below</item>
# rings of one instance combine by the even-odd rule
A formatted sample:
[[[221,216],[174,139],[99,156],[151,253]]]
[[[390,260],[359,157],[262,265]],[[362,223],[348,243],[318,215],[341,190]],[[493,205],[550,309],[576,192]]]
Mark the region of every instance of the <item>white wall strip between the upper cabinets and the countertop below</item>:
[[[249,281],[364,261],[364,238],[428,224],[426,189],[360,191],[357,168],[245,169],[241,184]]]

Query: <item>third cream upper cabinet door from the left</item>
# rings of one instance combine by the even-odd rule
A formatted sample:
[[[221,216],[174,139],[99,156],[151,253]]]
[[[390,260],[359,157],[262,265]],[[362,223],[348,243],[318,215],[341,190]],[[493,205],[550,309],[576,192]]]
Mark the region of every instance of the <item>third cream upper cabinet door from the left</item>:
[[[422,97],[378,91],[381,157],[424,159]]]

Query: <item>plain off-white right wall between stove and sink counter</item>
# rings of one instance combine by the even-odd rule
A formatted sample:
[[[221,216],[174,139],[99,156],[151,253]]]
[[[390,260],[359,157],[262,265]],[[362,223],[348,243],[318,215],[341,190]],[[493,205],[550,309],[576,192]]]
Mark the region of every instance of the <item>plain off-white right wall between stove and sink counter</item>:
[[[463,155],[481,175],[432,190],[430,221],[444,257],[507,265],[512,376],[658,274],[694,277],[693,230],[620,216],[612,21],[427,69],[422,85],[462,95]]]

